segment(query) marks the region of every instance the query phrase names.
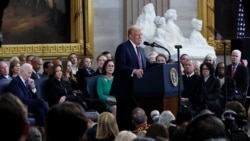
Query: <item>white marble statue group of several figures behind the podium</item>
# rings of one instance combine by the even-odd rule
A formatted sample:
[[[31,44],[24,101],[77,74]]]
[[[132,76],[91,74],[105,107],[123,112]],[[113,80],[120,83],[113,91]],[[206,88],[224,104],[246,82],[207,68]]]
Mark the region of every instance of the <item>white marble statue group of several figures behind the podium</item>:
[[[177,60],[177,49],[175,45],[182,45],[181,54],[188,54],[191,59],[202,61],[207,54],[216,56],[213,47],[209,46],[206,39],[201,34],[202,21],[192,19],[193,31],[190,38],[183,36],[181,29],[175,24],[177,12],[175,9],[168,9],[164,17],[156,16],[154,5],[148,3],[142,9],[142,13],[137,18],[136,25],[142,27],[143,41],[155,42],[165,47],[171,54],[171,59]],[[146,48],[148,53],[152,48]],[[168,55],[161,48],[155,48],[158,53]]]

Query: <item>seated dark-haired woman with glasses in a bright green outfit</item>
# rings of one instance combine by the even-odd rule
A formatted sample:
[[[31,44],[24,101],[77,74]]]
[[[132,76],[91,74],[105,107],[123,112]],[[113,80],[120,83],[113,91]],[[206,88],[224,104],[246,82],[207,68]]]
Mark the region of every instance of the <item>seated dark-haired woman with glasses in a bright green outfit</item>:
[[[114,62],[107,60],[103,64],[102,73],[97,79],[97,94],[101,101],[106,103],[107,110],[116,117],[116,99],[110,95],[111,85],[113,83],[113,73],[115,70]]]

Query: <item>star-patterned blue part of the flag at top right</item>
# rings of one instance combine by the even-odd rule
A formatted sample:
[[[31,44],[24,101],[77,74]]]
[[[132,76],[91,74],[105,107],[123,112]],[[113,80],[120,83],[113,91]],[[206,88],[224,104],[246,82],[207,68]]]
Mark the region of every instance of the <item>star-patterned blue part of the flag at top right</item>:
[[[245,38],[245,18],[242,0],[239,0],[238,23],[237,23],[237,38]]]

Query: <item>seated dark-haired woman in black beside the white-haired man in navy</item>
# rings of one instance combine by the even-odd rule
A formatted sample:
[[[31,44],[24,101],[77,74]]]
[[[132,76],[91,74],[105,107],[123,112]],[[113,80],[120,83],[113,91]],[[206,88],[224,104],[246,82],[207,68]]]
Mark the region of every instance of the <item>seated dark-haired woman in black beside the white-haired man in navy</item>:
[[[71,101],[76,102],[84,109],[87,109],[82,93],[78,90],[74,90],[69,81],[63,80],[61,66],[53,66],[51,78],[48,82],[48,89],[49,92],[47,97],[50,106],[65,101]]]

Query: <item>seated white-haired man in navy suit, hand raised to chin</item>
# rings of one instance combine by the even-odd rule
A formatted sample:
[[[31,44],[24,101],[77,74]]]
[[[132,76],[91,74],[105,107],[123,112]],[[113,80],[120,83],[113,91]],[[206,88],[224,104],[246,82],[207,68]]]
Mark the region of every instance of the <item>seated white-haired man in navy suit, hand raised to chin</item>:
[[[32,70],[30,64],[23,64],[19,75],[11,80],[8,89],[28,106],[28,112],[35,115],[36,125],[45,126],[48,105],[35,94],[35,82],[30,78]]]

